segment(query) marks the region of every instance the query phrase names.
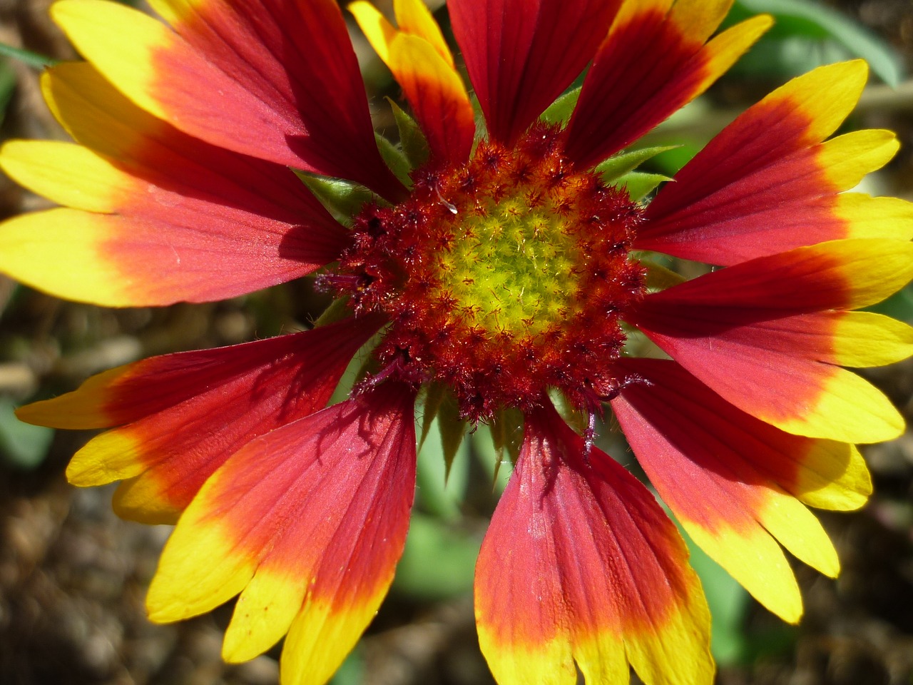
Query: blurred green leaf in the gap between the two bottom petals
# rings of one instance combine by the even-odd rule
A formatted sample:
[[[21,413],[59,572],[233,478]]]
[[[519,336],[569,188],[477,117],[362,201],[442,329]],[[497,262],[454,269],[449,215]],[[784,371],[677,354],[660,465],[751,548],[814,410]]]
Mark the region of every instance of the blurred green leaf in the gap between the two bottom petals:
[[[454,530],[445,522],[413,513],[394,590],[417,599],[439,601],[472,591],[477,535]]]

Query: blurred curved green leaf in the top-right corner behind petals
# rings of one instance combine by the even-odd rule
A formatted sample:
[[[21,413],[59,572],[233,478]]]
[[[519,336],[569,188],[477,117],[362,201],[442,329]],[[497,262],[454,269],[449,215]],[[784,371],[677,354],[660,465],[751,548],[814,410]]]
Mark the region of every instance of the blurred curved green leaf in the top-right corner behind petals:
[[[903,79],[903,60],[884,40],[848,16],[812,0],[737,0],[727,23],[757,14],[771,14],[776,23],[752,49],[740,68],[752,66],[771,73],[771,67],[803,71],[845,58],[863,58],[872,71],[888,85]],[[839,48],[839,50],[837,49]],[[779,54],[778,54],[779,53]]]

